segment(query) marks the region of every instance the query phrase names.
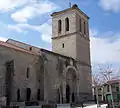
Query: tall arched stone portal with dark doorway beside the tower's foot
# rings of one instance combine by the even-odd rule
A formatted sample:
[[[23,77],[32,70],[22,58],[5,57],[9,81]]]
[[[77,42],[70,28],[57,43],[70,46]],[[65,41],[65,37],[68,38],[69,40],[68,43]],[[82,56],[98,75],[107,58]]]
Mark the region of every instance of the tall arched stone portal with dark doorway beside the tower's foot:
[[[68,66],[65,70],[66,78],[66,102],[74,102],[77,87],[77,70],[74,66]]]

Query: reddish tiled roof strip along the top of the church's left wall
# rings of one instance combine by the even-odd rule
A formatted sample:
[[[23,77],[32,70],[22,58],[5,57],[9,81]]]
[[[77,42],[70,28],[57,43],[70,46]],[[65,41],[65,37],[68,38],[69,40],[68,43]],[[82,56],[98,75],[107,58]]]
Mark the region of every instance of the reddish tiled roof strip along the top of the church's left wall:
[[[32,55],[38,55],[38,53],[31,52],[31,51],[22,49],[20,47],[17,47],[17,46],[14,46],[14,45],[11,45],[9,43],[2,42],[2,41],[0,41],[0,46],[11,48],[11,49],[14,49],[14,50],[17,50],[17,51],[20,51],[20,52],[24,52],[24,53],[28,53],[28,54],[32,54]]]

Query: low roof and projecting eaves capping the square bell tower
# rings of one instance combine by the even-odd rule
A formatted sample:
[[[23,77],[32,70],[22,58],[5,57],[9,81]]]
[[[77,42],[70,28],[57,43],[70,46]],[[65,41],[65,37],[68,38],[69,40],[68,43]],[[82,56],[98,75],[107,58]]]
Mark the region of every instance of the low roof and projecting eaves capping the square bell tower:
[[[59,11],[59,12],[54,12],[54,13],[51,14],[51,16],[53,17],[53,16],[56,16],[56,15],[59,15],[59,14],[62,14],[62,13],[68,12],[68,11],[72,11],[72,10],[79,11],[83,16],[85,16],[87,19],[89,19],[89,17],[83,11],[81,11],[78,8],[77,4],[74,4],[71,8],[68,8],[68,9],[65,9],[65,10],[62,10],[62,11]]]

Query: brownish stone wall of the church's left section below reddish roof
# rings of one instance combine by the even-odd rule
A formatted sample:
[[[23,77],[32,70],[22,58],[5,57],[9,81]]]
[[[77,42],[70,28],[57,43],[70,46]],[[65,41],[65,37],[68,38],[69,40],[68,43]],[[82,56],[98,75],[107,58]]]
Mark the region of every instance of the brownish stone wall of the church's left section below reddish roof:
[[[11,48],[0,46],[0,76],[2,77],[2,95],[5,96],[5,63],[14,60],[14,75],[11,86],[11,100],[17,101],[17,90],[20,89],[20,101],[26,100],[26,88],[31,88],[31,100],[37,97],[37,79],[36,63],[39,56],[16,51]],[[29,68],[29,77],[27,78],[27,68]]]

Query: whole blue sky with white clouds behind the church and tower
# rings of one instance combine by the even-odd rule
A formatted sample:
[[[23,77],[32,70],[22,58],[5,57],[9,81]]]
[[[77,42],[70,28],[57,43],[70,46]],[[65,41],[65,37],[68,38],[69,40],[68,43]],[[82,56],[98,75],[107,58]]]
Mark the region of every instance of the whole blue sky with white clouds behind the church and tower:
[[[51,49],[51,17],[77,4],[90,17],[91,59],[98,64],[120,67],[120,0],[0,0],[0,40],[12,38]]]

